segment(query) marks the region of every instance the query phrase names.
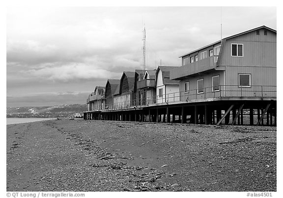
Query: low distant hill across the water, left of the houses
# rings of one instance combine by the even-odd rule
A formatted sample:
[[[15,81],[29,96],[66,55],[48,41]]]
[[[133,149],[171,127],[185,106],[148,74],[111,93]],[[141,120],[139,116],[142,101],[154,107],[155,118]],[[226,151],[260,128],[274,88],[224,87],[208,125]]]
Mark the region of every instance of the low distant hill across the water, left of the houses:
[[[7,107],[6,117],[68,117],[87,110],[86,104],[56,105],[47,107]]]

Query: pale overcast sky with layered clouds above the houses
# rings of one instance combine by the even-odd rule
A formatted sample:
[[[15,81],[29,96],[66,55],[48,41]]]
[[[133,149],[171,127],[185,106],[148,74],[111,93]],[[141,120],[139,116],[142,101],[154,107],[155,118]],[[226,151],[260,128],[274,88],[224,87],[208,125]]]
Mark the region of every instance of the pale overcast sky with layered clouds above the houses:
[[[7,107],[84,104],[95,86],[142,69],[181,65],[179,56],[221,38],[220,7],[10,7]],[[222,7],[223,37],[276,27],[276,7]]]

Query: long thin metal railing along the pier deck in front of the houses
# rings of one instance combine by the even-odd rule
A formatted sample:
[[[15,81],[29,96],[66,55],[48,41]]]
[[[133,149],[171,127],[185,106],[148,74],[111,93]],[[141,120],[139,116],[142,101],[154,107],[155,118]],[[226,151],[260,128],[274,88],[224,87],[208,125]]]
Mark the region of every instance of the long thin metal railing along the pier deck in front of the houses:
[[[276,86],[253,85],[250,87],[239,87],[238,85],[220,85],[217,87],[204,87],[202,90],[192,89],[187,92],[180,91],[163,95],[152,96],[148,98],[124,101],[119,103],[108,104],[105,110],[121,110],[129,108],[146,107],[157,104],[170,104],[174,102],[198,102],[205,99],[218,98],[229,99],[229,97],[237,97],[237,99],[246,98],[275,98]],[[201,92],[200,92],[201,91]],[[101,108],[94,109],[99,111]]]

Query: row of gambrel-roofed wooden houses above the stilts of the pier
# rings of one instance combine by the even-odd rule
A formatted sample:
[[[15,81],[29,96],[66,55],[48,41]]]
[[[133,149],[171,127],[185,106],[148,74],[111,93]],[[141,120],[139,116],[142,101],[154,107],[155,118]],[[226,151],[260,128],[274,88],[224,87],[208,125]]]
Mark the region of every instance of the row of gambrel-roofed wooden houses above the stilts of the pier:
[[[181,66],[124,71],[95,87],[87,112],[276,101],[276,45],[277,31],[261,26],[182,55]]]

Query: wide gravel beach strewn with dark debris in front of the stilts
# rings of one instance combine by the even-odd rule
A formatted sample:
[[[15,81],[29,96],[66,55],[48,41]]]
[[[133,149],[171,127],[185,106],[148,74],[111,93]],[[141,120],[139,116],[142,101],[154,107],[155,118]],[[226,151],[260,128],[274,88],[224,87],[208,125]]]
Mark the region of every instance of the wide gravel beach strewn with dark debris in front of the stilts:
[[[7,191],[277,191],[276,127],[7,125]]]

